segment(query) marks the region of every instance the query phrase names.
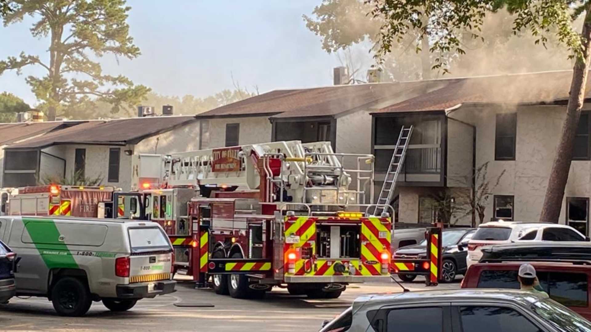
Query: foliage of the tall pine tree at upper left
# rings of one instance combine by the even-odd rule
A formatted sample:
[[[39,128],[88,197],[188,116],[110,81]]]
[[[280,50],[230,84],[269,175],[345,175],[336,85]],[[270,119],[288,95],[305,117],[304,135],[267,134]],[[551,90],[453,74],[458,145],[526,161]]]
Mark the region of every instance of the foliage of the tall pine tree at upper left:
[[[38,55],[21,52],[0,61],[0,74],[15,70],[21,74],[25,66],[41,66],[47,74],[28,76],[26,82],[47,109],[48,118],[57,113],[68,114],[81,106],[105,102],[111,112],[133,108],[150,91],[135,86],[124,76],[102,73],[98,62],[90,56],[133,59],[139,48],[129,36],[125,0],[11,0],[14,9],[3,16],[4,25],[21,22],[29,15],[37,21],[31,27],[34,38],[48,38],[48,61]]]

